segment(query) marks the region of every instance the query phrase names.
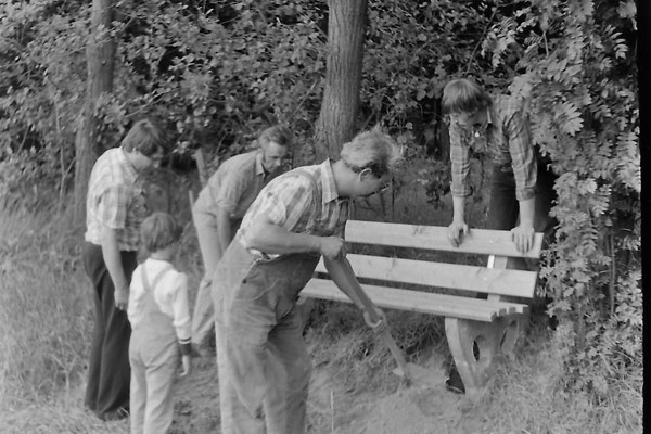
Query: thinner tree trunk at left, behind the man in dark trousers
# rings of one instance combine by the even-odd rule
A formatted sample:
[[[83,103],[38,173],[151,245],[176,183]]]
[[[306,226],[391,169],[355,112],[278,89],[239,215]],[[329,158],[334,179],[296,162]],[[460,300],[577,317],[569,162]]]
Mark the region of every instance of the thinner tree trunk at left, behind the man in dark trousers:
[[[86,216],[86,193],[88,178],[100,153],[97,104],[102,93],[113,91],[113,68],[116,42],[111,36],[113,21],[113,0],[93,0],[90,35],[86,46],[88,77],[86,102],[78,119],[75,138],[75,220],[82,221]]]

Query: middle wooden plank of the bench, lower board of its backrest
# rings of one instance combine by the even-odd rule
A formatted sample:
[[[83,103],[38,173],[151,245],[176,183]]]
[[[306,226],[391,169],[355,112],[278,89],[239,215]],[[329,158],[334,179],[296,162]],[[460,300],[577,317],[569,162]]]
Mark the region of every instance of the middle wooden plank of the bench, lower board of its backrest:
[[[534,296],[537,278],[535,271],[355,254],[346,257],[360,278],[527,298]],[[317,271],[328,272],[322,259]]]

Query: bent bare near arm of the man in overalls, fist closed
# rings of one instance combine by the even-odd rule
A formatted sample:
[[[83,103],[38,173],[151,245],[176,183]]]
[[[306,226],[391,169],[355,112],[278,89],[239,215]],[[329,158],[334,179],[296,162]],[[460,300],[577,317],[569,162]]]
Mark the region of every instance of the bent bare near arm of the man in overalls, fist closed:
[[[259,217],[253,224],[246,234],[246,243],[247,247],[268,254],[314,252],[327,258],[345,255],[344,240],[341,238],[290,232],[267,217]]]

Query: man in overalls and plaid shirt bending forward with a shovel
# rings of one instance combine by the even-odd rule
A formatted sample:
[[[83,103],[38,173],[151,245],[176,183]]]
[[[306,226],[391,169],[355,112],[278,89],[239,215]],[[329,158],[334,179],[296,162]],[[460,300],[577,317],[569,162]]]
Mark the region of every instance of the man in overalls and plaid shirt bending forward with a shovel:
[[[348,205],[386,188],[400,158],[391,137],[362,132],[341,159],[270,181],[244,215],[213,275],[224,434],[305,432],[311,362],[296,299],[323,256],[332,280],[363,310],[367,295],[343,239]]]

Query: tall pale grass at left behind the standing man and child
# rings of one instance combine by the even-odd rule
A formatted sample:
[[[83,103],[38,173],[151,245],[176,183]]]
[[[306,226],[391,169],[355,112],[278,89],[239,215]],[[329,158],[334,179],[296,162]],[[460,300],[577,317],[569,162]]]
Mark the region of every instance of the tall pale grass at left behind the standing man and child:
[[[84,409],[94,327],[81,259],[86,228],[52,209],[0,209],[0,433],[126,433],[128,424],[103,423]],[[177,264],[192,297],[201,263],[191,224]]]

